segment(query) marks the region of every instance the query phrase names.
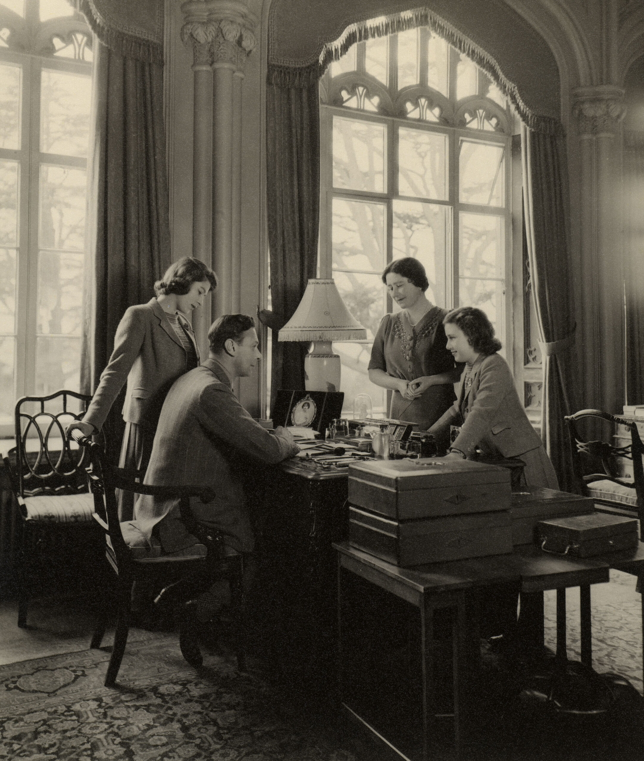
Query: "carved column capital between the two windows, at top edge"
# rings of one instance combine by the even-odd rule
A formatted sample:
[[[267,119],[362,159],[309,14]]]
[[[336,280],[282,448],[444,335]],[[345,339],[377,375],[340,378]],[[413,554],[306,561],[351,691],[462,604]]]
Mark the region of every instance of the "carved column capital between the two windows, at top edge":
[[[246,59],[257,45],[255,14],[239,0],[188,0],[181,10],[186,19],[181,39],[192,43],[195,65],[197,46],[207,46],[213,68],[243,72]],[[205,59],[201,50],[199,55]]]

